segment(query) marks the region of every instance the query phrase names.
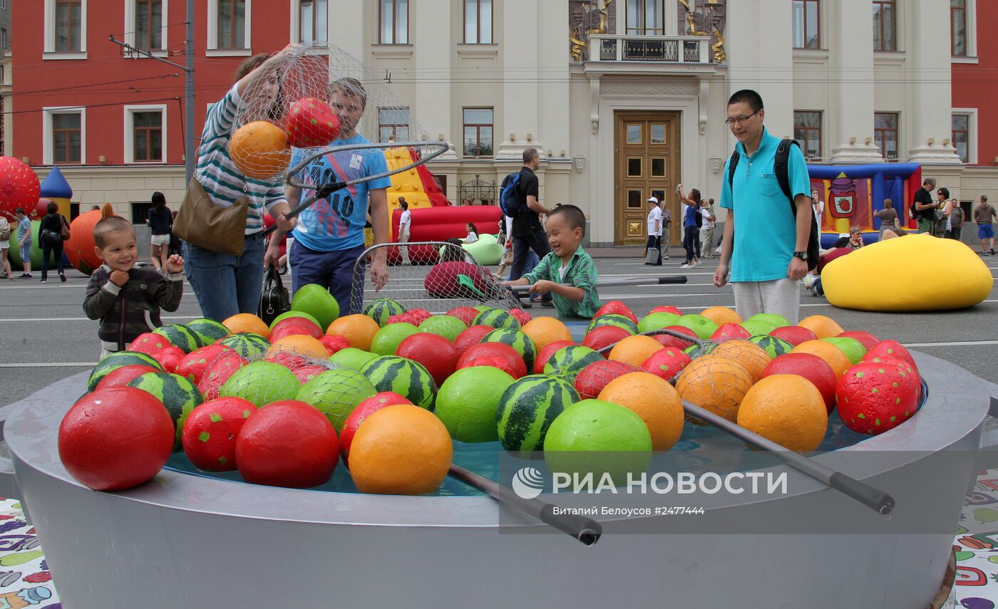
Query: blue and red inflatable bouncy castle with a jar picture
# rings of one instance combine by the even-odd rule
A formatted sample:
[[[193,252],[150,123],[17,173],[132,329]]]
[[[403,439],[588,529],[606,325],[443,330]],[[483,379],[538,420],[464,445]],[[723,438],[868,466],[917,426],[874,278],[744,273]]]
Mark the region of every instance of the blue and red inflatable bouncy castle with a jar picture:
[[[873,214],[883,209],[885,198],[893,202],[902,225],[908,224],[908,207],[922,181],[917,163],[809,164],[807,173],[811,188],[824,201],[821,247],[829,247],[840,235],[848,234],[850,226],[862,228],[865,242],[876,241],[880,219]]]

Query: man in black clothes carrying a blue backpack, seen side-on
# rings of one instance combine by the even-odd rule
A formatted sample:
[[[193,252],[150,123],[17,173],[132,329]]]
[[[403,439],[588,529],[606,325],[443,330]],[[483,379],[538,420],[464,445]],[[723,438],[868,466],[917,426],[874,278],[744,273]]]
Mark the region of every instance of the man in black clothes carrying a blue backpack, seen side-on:
[[[500,205],[503,213],[513,218],[513,265],[510,268],[510,281],[523,276],[527,267],[530,250],[534,250],[539,258],[551,251],[548,235],[541,225],[540,214],[549,214],[551,210],[540,203],[540,188],[537,174],[534,171],[541,166],[541,154],[537,149],[523,151],[523,167],[519,177],[507,176],[503,182],[500,194]],[[507,189],[508,186],[508,189]],[[526,304],[526,303],[525,303]],[[529,306],[529,305],[528,305]],[[545,294],[541,306],[553,307],[551,294]]]

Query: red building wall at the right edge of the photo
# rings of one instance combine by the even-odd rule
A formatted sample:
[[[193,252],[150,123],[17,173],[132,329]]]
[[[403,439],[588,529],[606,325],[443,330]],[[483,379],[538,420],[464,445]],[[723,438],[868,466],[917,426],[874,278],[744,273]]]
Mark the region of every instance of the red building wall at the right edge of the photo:
[[[977,109],[977,162],[994,166],[998,157],[998,2],[976,0],[977,64],[953,64],[953,108]]]

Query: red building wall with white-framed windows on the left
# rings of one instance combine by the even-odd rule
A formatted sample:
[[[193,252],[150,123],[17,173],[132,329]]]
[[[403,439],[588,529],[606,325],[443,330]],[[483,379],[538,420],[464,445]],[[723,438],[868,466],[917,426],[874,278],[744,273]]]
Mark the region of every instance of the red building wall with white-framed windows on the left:
[[[206,57],[208,0],[197,0],[195,6],[195,123],[200,136],[208,104],[217,102],[232,87],[236,69],[247,57]],[[169,25],[166,46],[171,54],[167,59],[184,65],[186,2],[173,0],[168,10],[164,21]],[[110,34],[124,40],[123,0],[89,0],[87,13],[87,59],[45,60],[44,2],[13,3],[12,28],[17,36],[12,52],[16,75],[12,155],[28,156],[31,164],[42,164],[41,109],[86,106],[86,164],[100,164],[102,154],[107,157],[106,164],[124,163],[123,107],[165,104],[168,163],[183,164],[184,71],[153,59],[128,59],[122,47],[108,40]],[[288,42],[289,19],[285,2],[251,3],[252,54],[283,48]]]

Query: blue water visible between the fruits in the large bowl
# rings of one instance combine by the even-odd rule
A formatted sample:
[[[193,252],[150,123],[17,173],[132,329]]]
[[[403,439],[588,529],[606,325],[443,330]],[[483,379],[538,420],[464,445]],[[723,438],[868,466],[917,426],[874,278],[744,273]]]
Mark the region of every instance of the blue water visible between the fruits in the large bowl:
[[[567,322],[572,336],[576,340],[581,340],[585,333],[586,322]],[[928,388],[922,382],[922,396],[918,408],[928,398]],[[828,418],[828,428],[825,431],[824,440],[818,448],[820,452],[836,451],[851,447],[870,437],[857,434],[842,424],[838,417],[838,412],[832,412]],[[474,471],[484,477],[499,479],[499,455],[502,454],[502,446],[498,442],[467,444],[454,442],[453,462],[466,469]],[[670,462],[688,468],[691,471],[708,469],[712,464],[716,467],[730,467],[733,463],[739,462],[739,457],[749,453],[749,448],[744,442],[711,426],[697,426],[686,423],[683,428],[683,435],[672,451],[669,452]],[[757,454],[756,454],[757,455]],[[719,460],[719,457],[721,460]],[[737,464],[735,465],[737,467]],[[177,453],[167,461],[166,468],[216,479],[230,480],[233,482],[248,483],[238,471],[209,472],[202,471],[191,463],[190,459],[183,453]],[[350,474],[343,465],[342,460],[336,465],[332,478],[309,490],[324,492],[359,492],[353,484]],[[452,477],[444,478],[440,489],[434,496],[472,496],[484,494],[464,482]]]

